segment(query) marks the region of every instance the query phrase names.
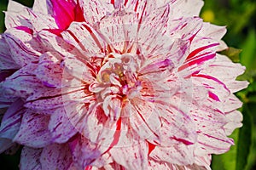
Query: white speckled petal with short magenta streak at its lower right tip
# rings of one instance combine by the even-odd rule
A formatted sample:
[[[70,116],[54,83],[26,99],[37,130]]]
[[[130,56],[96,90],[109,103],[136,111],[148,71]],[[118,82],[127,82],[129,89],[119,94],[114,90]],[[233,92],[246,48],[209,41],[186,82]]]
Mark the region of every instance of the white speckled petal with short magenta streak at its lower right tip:
[[[156,132],[160,140],[159,144],[156,143],[157,145],[172,146],[179,143],[186,145],[196,143],[196,126],[189,114],[166,103],[156,105],[156,108],[160,111],[161,121],[161,126]],[[151,141],[150,138],[149,141]],[[152,142],[154,143],[155,141]]]

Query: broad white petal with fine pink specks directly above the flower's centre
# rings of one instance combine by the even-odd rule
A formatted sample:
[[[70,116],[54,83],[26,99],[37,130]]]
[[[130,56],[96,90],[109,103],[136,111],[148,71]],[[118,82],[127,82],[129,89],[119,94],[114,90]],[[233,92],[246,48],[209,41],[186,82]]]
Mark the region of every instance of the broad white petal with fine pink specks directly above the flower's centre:
[[[132,24],[131,24],[132,23]],[[138,20],[135,13],[117,11],[99,21],[97,30],[115,53],[137,50]]]

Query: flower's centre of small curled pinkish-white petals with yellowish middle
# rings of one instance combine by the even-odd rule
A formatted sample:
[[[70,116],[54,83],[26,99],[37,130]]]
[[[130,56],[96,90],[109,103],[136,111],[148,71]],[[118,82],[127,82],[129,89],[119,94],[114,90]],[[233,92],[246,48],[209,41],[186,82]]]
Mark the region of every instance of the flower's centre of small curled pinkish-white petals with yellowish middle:
[[[120,115],[122,105],[140,94],[139,64],[135,54],[108,54],[89,90],[96,94],[106,115]],[[119,111],[117,111],[119,110]],[[116,119],[114,116],[113,119]]]

